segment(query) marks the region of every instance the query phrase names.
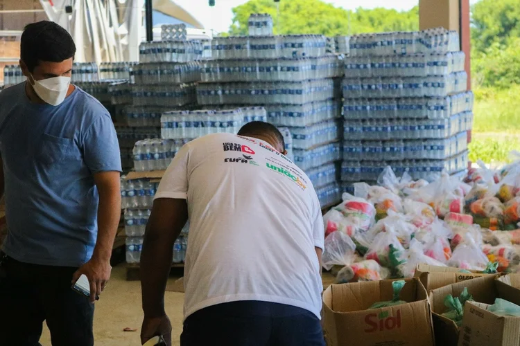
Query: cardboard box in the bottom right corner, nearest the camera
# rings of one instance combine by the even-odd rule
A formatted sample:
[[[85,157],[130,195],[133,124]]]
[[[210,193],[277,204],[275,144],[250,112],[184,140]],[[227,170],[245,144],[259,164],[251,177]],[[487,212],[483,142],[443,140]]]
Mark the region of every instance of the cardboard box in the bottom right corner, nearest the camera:
[[[488,307],[467,302],[458,346],[519,346],[520,317],[498,316]]]

